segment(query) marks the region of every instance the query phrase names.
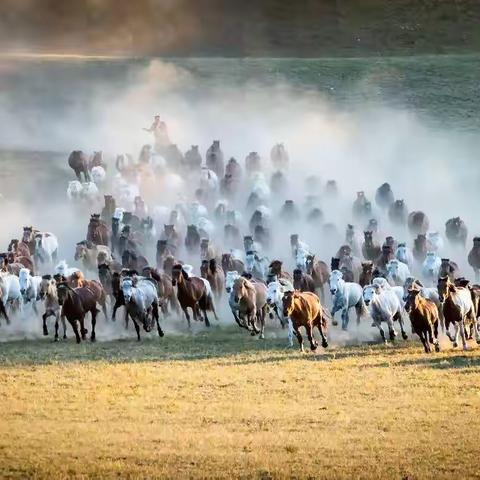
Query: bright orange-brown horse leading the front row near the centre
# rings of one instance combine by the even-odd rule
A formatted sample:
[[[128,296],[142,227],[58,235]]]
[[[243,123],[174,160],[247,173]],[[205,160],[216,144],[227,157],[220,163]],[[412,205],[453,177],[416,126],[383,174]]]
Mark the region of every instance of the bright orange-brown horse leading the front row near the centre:
[[[283,315],[290,317],[300,350],[303,352],[303,338],[299,328],[307,331],[310,348],[316,350],[318,343],[313,336],[313,328],[317,327],[322,337],[322,347],[327,348],[327,314],[320,303],[320,299],[310,292],[285,292],[283,296]]]

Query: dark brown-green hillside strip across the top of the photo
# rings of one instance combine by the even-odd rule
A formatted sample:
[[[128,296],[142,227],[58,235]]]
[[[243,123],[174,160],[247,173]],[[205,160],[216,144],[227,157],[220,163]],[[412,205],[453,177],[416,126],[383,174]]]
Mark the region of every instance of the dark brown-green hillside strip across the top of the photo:
[[[477,0],[4,0],[4,49],[332,56],[480,50]]]

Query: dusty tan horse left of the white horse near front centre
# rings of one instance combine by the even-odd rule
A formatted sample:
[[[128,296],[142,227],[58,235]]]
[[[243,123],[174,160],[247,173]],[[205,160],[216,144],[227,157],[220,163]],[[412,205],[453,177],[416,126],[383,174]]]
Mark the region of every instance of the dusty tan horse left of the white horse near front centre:
[[[267,287],[263,283],[238,277],[233,283],[232,296],[236,307],[234,317],[238,318],[238,324],[250,330],[252,335],[260,333],[260,338],[264,338]],[[257,320],[260,323],[260,330],[257,327]]]

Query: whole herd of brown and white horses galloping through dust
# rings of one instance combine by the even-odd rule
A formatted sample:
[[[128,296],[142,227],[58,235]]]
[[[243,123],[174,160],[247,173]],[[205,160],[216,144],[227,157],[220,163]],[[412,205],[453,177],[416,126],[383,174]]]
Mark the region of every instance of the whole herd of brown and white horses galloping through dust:
[[[473,337],[480,343],[480,285],[442,258],[444,239],[465,255],[465,223],[455,217],[444,234],[432,231],[426,213],[408,211],[388,183],[373,202],[357,193],[341,238],[342,226],[326,222],[321,208],[338,199],[334,180],[304,178],[301,208],[285,198],[290,159],[283,144],[272,148],[270,161],[249,153],[244,166],[225,161],[218,141],[205,159],[198,146],[183,154],[176,145],[146,145],[138,160],[121,154],[109,163],[102,152],[89,158],[74,151],[68,164],[76,180],[67,196],[79,213],[89,214],[85,238],[75,245],[76,266],[58,260],[54,233],[24,227],[0,254],[0,315],[7,322],[41,314],[48,335],[47,320],[54,317],[58,340],[60,324],[67,337],[68,321],[80,343],[88,333],[86,318],[94,341],[100,310],[115,320],[123,307],[125,327],[131,319],[140,340],[141,329],[155,327],[163,337],[161,321],[168,316],[183,315],[188,326],[193,317],[209,327],[225,302],[252,336],[264,338],[267,324],[279,321],[289,345],[295,336],[302,351],[302,327],[312,350],[318,347],[315,328],[326,348],[337,312],[348,331],[352,309],[357,324],[378,329],[385,342],[397,337],[396,325],[406,339],[410,321],[425,352],[439,350],[440,330],[454,347],[459,336],[464,349]],[[161,205],[143,196],[146,179],[163,185],[156,192]],[[388,228],[402,232],[401,241]],[[317,258],[310,238],[337,242],[328,262]],[[279,245],[283,255],[271,256]],[[480,237],[473,238],[467,259],[478,281]]]

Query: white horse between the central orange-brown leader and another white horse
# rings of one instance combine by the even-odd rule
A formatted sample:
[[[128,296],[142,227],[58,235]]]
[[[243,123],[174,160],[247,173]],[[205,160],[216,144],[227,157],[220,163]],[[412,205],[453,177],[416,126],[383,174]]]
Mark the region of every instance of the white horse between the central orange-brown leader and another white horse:
[[[340,270],[334,270],[329,278],[330,293],[333,297],[333,306],[331,310],[332,325],[337,325],[335,313],[342,311],[342,330],[348,327],[348,312],[350,308],[355,307],[357,312],[357,324],[360,323],[360,317],[365,313],[365,304],[363,302],[362,287],[358,283],[345,282]]]

